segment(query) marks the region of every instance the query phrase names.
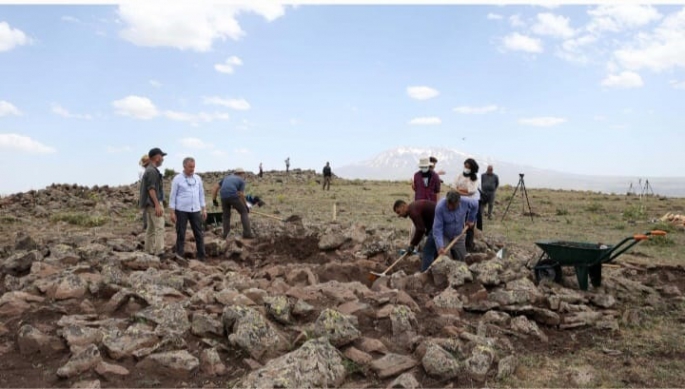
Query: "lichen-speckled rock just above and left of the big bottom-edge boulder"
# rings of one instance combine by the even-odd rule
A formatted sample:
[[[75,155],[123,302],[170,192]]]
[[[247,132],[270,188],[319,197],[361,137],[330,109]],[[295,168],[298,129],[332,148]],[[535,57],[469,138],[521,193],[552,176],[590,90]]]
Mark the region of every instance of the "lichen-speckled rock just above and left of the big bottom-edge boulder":
[[[221,321],[229,334],[229,342],[247,351],[254,359],[285,349],[283,336],[253,308],[226,307]]]

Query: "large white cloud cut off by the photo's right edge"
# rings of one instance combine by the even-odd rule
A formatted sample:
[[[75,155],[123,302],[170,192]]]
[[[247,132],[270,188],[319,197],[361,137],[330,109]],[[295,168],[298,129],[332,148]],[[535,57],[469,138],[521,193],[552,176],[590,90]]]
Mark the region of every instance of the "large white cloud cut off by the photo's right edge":
[[[614,58],[630,70],[685,68],[685,8],[666,17],[652,33],[638,34],[616,50]]]

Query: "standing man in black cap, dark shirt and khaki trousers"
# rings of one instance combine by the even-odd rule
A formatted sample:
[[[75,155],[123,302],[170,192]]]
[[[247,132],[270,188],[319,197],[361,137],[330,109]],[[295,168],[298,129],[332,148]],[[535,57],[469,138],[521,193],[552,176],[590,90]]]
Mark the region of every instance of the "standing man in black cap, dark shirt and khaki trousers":
[[[140,208],[145,210],[147,229],[145,231],[145,252],[152,255],[164,254],[164,188],[159,167],[164,162],[165,152],[155,147],[148,156],[150,163],[140,180]]]

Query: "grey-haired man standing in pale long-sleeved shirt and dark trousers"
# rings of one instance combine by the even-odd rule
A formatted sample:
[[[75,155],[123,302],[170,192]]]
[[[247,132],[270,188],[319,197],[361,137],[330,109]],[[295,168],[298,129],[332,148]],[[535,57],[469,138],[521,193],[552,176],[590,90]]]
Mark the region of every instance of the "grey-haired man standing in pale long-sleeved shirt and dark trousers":
[[[169,195],[169,208],[171,209],[171,222],[176,224],[176,258],[184,260],[183,254],[186,227],[190,222],[190,228],[195,237],[197,247],[197,259],[207,259],[202,225],[207,219],[207,206],[205,204],[205,190],[202,178],[195,174],[195,159],[188,157],[183,160],[183,172],[179,173],[171,181],[171,194]]]

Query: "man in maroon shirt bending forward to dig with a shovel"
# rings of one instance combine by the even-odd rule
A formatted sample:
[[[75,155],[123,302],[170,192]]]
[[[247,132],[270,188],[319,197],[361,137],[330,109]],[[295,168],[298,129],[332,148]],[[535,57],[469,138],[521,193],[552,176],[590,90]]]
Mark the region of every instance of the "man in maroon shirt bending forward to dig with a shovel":
[[[433,219],[435,219],[435,202],[429,200],[417,200],[407,204],[403,200],[395,201],[392,207],[399,217],[409,217],[414,223],[414,235],[409,242],[407,252],[413,252],[414,247],[421,242],[421,238],[426,235],[426,243],[423,245],[421,254],[421,271],[425,271],[437,257],[435,241],[431,229]]]

